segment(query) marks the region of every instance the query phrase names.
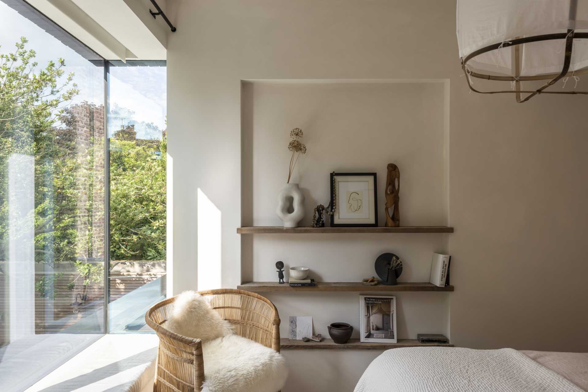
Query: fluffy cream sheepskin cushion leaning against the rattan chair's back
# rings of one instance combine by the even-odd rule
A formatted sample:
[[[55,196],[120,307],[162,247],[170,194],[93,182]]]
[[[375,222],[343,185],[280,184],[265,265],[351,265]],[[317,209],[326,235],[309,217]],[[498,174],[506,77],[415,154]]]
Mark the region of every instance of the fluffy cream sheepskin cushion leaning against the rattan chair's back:
[[[208,301],[193,291],[183,292],[176,297],[165,328],[202,341],[233,334],[229,321],[222,319]]]

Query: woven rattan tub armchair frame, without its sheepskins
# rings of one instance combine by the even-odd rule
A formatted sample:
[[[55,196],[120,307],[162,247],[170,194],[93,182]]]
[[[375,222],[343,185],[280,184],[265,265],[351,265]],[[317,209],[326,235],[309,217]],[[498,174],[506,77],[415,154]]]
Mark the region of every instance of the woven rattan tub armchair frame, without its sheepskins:
[[[280,317],[272,301],[234,289],[199,293],[233,325],[235,333],[280,352]],[[165,329],[174,300],[160,301],[145,313],[148,326],[159,336],[153,392],[199,392],[205,368],[201,340]]]

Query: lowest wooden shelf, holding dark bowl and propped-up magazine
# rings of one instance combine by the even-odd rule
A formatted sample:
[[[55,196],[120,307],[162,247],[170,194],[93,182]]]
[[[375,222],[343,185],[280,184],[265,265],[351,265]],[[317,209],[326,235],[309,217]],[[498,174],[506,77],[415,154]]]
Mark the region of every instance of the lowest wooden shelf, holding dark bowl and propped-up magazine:
[[[359,339],[349,339],[345,344],[336,344],[332,339],[324,339],[320,342],[280,339],[282,350],[388,350],[426,346],[453,347],[453,344],[420,343],[416,339],[398,339],[398,343],[362,343]]]

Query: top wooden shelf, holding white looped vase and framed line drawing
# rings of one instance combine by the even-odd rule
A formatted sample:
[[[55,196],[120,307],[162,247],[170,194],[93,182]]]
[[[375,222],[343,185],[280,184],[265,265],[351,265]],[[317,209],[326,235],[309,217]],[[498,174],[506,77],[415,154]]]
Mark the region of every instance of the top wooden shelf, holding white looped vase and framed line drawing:
[[[449,226],[400,226],[400,227],[282,227],[243,226],[238,234],[337,234],[337,233],[453,233]]]

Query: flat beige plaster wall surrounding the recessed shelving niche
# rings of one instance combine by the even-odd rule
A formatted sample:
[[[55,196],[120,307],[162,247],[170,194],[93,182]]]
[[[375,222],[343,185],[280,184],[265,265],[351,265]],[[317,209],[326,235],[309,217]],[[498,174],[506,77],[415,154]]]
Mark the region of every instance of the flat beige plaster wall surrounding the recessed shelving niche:
[[[448,217],[456,231],[447,250],[456,289],[443,295],[453,343],[588,351],[577,339],[588,329],[585,97],[518,105],[513,96],[469,94],[452,0],[176,0],[168,8],[178,26],[168,35],[174,292],[194,288],[196,263],[206,262],[196,260],[206,230],[196,225],[198,189],[221,213],[222,285],[241,281],[235,229],[253,219],[242,207],[242,80],[449,79]],[[255,268],[245,264],[243,274]],[[272,297],[278,307],[287,299]],[[351,391],[377,352],[285,355],[287,391]],[[359,371],[341,376],[349,366]]]

